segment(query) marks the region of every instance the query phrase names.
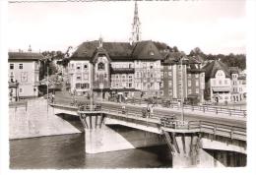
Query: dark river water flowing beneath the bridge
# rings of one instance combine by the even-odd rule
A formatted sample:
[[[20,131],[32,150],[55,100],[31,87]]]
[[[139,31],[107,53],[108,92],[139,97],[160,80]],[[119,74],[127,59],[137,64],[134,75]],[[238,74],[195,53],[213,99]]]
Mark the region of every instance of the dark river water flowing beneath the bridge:
[[[167,146],[85,153],[84,134],[10,141],[11,169],[171,167]]]

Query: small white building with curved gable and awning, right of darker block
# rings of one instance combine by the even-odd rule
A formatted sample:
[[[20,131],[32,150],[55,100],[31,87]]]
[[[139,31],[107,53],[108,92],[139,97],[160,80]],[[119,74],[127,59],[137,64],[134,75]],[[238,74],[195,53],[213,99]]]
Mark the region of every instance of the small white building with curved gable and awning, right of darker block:
[[[213,102],[229,102],[231,100],[231,76],[223,62],[215,60],[209,62],[204,69],[205,99]]]

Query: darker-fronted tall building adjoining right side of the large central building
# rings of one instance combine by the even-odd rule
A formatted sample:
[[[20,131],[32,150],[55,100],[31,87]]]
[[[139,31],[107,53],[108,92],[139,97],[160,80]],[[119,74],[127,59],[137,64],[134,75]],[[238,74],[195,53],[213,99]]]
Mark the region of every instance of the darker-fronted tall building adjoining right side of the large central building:
[[[163,98],[204,99],[205,74],[200,62],[180,52],[167,52],[161,61],[160,94]],[[183,91],[181,91],[183,89]]]

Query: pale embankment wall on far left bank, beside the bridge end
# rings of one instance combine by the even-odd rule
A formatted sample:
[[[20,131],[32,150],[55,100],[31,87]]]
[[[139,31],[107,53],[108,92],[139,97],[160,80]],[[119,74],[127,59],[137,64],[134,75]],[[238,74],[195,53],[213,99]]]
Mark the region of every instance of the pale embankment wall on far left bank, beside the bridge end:
[[[9,107],[9,139],[81,133],[74,125],[54,115],[43,98],[28,101],[25,106]]]

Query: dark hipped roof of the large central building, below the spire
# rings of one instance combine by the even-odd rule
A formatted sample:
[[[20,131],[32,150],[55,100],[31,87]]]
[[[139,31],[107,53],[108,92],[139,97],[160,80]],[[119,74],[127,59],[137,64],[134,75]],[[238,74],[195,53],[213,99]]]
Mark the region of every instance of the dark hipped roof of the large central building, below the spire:
[[[103,42],[102,48],[111,60],[161,59],[160,51],[151,40],[134,44],[129,42]],[[73,53],[71,59],[93,59],[98,49],[98,40],[83,42]],[[151,51],[154,54],[150,54]]]

